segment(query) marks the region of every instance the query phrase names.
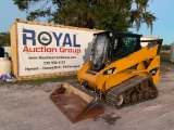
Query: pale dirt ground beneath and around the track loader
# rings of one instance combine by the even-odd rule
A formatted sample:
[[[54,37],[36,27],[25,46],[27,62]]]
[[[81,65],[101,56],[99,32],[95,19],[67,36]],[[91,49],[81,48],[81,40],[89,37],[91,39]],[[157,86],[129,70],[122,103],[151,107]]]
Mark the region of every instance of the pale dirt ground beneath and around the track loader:
[[[49,100],[61,82],[0,87],[0,130],[174,130],[174,65],[162,64],[159,96],[72,123]]]

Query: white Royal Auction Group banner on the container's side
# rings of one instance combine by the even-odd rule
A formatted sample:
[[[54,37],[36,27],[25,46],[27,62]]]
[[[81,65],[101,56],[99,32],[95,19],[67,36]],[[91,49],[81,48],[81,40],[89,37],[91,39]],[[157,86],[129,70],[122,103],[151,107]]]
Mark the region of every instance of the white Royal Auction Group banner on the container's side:
[[[94,31],[17,23],[18,76],[78,70]]]

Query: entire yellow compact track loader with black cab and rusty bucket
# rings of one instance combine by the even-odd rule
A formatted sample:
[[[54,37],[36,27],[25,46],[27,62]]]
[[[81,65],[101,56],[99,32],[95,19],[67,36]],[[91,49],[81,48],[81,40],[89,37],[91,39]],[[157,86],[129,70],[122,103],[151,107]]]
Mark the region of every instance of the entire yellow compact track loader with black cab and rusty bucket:
[[[90,60],[78,70],[77,81],[64,82],[50,94],[72,122],[103,114],[102,100],[122,108],[158,96],[162,39],[140,41],[141,35],[119,31],[94,36]]]

